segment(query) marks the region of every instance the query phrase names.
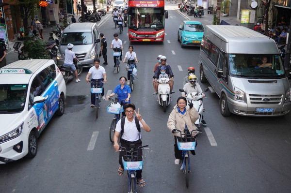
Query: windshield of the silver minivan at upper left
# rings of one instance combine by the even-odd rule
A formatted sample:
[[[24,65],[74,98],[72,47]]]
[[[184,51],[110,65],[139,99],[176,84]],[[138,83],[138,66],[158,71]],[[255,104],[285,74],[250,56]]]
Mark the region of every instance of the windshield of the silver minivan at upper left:
[[[91,32],[69,32],[64,33],[61,39],[61,45],[90,45],[93,44]]]

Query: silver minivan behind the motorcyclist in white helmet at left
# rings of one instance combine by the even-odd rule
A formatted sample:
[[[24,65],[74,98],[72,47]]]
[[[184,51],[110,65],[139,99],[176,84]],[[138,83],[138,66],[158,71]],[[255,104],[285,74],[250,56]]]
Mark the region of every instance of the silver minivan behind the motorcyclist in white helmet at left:
[[[83,67],[94,65],[94,60],[99,58],[100,39],[99,30],[96,23],[73,23],[65,28],[57,54],[57,64],[63,65],[65,60],[65,50],[69,43],[73,44],[73,51]]]

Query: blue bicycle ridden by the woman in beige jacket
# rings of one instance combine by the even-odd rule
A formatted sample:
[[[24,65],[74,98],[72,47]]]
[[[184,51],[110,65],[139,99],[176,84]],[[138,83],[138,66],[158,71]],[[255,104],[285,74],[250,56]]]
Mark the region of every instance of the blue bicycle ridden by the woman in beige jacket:
[[[177,132],[180,132],[181,134],[181,137],[177,137],[177,145],[178,149],[183,151],[183,164],[181,166],[181,169],[183,169],[183,172],[185,172],[186,187],[188,188],[189,175],[191,172],[189,151],[195,150],[196,148],[196,137],[192,136],[192,132],[197,133],[197,131],[193,130],[191,134],[188,129],[184,129],[184,134],[182,134],[180,130],[177,130]]]

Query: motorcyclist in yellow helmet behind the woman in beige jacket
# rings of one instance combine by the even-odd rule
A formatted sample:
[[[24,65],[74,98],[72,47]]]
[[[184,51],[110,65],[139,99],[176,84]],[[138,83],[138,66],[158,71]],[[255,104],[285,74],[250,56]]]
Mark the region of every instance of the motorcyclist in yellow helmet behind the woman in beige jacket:
[[[188,94],[192,93],[192,92],[198,92],[198,93],[201,93],[202,97],[205,97],[203,90],[201,89],[200,85],[196,82],[196,80],[197,80],[196,75],[190,74],[189,75],[189,82],[184,85],[183,90],[185,92],[187,92]],[[185,92],[182,92],[183,97],[186,97]],[[202,98],[199,100],[203,101]],[[201,123],[204,126],[207,125],[206,121],[203,119],[203,115],[202,115]]]

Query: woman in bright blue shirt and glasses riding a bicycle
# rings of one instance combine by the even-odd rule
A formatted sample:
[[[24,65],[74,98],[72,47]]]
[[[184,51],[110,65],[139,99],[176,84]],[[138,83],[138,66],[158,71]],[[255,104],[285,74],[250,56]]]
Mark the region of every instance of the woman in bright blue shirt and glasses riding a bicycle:
[[[113,91],[113,93],[111,93],[110,95],[108,95],[106,98],[107,100],[110,97],[113,97],[115,94],[117,94],[118,97],[118,102],[123,105],[123,109],[124,109],[124,105],[127,103],[130,103],[130,93],[131,93],[131,89],[128,85],[125,84],[126,82],[126,77],[121,76],[119,78],[120,80],[120,85],[117,85]],[[124,103],[122,101],[126,101],[127,103]],[[122,112],[122,115],[125,116],[124,111]]]

